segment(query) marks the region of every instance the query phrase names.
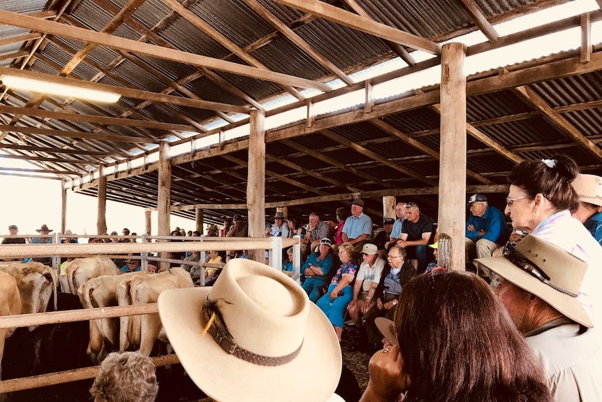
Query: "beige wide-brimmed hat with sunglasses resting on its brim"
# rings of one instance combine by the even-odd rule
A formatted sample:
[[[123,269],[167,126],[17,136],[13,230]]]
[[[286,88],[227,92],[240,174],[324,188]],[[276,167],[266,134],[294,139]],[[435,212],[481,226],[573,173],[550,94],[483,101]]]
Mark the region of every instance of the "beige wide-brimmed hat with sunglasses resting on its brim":
[[[508,246],[507,246],[508,247]],[[476,259],[517,287],[534,294],[571,320],[594,326],[577,300],[587,262],[532,234],[500,257]]]

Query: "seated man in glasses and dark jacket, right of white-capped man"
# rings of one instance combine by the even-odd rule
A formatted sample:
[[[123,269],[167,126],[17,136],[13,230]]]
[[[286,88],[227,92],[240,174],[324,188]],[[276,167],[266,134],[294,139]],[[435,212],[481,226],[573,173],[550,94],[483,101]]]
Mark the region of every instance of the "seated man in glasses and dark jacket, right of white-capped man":
[[[382,336],[374,322],[376,317],[393,319],[399,293],[411,278],[416,276],[416,268],[406,260],[406,250],[402,247],[391,247],[388,260],[389,264],[383,268],[381,280],[372,297],[376,303],[365,314],[369,350],[381,349]]]

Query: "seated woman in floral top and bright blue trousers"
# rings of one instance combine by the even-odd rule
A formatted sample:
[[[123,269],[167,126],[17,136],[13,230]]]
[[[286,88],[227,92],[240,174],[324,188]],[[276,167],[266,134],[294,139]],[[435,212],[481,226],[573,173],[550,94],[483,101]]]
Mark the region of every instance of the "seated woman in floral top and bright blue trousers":
[[[353,245],[342,244],[339,247],[339,259],[341,266],[330,281],[328,293],[319,300],[318,307],[324,312],[332,326],[335,327],[337,338],[341,342],[343,334],[344,314],[347,305],[353,299],[353,282],[355,273],[358,272],[358,264],[351,259],[353,254]]]

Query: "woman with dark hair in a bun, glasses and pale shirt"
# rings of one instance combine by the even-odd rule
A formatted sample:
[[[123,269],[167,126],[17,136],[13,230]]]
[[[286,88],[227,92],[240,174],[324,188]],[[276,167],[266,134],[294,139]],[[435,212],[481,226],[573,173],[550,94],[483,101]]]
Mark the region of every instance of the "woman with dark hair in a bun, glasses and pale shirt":
[[[578,173],[577,164],[566,155],[517,164],[508,174],[505,212],[515,229],[543,238],[590,264],[600,264],[602,247],[579,220],[571,217],[571,211],[579,206],[578,194],[571,185]],[[584,306],[600,304],[599,271],[587,270],[579,294]]]

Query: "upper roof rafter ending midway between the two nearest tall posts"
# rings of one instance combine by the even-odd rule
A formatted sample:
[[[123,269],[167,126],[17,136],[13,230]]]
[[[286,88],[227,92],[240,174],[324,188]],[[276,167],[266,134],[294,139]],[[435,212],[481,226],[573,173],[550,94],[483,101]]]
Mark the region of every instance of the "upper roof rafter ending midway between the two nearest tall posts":
[[[165,1],[165,0],[164,0]],[[174,1],[174,0],[168,0]],[[298,46],[301,50],[303,50],[309,57],[314,59],[318,64],[323,66],[325,69],[333,73],[335,76],[339,77],[346,85],[353,85],[353,80],[347,76],[339,67],[331,62],[328,58],[324,57],[320,54],[313,46],[311,46],[307,41],[305,41],[301,36],[295,33],[293,29],[289,28],[278,19],[274,14],[270,13],[270,10],[267,10],[264,6],[262,6],[257,0],[244,0],[247,3],[247,6],[251,7],[260,17],[264,20],[272,24],[272,27],[276,28],[280,31],[289,41],[293,42]]]

